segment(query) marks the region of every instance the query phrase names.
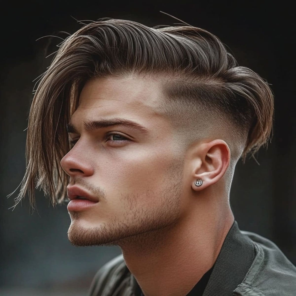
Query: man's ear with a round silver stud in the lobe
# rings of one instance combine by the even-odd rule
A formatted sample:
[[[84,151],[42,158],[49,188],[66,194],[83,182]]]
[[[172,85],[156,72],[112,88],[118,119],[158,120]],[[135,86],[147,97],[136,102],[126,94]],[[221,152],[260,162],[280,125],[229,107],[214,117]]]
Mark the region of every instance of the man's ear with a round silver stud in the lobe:
[[[224,176],[229,166],[230,150],[225,141],[217,139],[200,144],[195,157],[196,161],[192,162],[192,189],[200,191],[217,183]]]

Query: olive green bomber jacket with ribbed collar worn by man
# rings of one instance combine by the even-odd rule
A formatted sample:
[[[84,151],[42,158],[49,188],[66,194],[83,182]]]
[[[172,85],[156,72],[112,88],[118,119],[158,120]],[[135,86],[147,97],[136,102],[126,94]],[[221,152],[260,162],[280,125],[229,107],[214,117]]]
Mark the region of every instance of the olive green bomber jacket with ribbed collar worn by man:
[[[139,296],[141,289],[120,255],[96,274],[90,296]],[[188,293],[187,296],[194,296]],[[203,296],[296,296],[296,267],[270,240],[240,231],[234,221]]]

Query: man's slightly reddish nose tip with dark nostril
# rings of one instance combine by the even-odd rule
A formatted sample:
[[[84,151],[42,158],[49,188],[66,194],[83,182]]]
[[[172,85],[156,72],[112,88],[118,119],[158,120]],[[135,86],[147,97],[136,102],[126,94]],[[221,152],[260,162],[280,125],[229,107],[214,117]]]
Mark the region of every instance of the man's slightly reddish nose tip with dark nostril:
[[[75,150],[75,147],[71,149],[60,161],[63,170],[70,177],[87,177],[94,174],[94,168],[92,162],[87,159],[87,154],[84,151]]]

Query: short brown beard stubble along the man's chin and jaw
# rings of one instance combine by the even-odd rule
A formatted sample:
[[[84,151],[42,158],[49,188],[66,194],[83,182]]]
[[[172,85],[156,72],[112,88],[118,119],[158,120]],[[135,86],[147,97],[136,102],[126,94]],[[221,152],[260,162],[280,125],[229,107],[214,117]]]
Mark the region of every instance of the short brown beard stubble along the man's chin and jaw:
[[[129,244],[145,245],[151,240],[157,242],[158,237],[174,226],[181,210],[183,167],[177,167],[174,163],[166,176],[167,180],[163,183],[166,186],[158,192],[146,192],[146,200],[153,201],[157,198],[161,201],[159,207],[143,208],[139,205],[136,195],[128,194],[120,200],[126,215],[113,217],[110,221],[95,227],[83,227],[80,223],[81,214],[72,212],[68,239],[75,246],[126,247]],[[93,185],[91,187],[92,192],[102,194],[102,190]]]

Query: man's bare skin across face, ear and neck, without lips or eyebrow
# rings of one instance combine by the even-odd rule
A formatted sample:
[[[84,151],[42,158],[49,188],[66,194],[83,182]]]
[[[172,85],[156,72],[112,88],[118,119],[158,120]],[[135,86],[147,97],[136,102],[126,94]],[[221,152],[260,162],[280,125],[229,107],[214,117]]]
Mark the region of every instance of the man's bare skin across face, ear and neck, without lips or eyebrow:
[[[180,296],[213,266],[234,221],[223,177],[230,151],[210,137],[182,151],[169,120],[157,112],[161,97],[159,82],[148,77],[88,81],[70,120],[77,142],[61,165],[70,185],[99,198],[90,209],[69,212],[70,241],[116,244],[145,296]],[[115,117],[149,133],[83,125]],[[110,131],[120,136],[105,138]]]

